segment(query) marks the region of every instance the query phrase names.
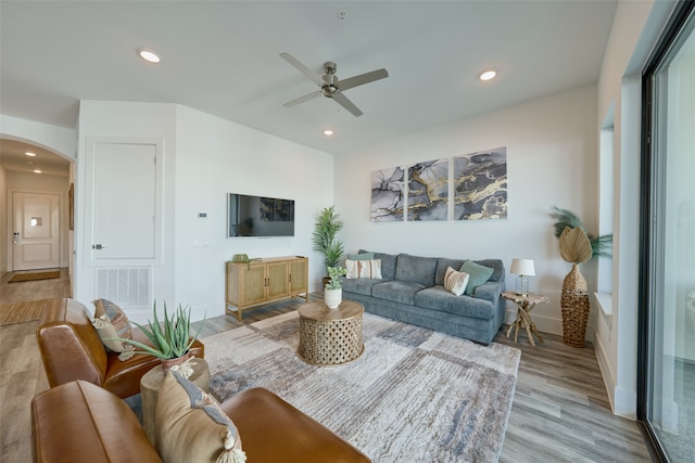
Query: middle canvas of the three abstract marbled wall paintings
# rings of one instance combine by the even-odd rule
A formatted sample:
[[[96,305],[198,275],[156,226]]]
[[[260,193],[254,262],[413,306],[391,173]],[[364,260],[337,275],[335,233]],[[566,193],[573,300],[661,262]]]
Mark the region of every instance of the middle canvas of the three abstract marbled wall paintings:
[[[408,167],[407,220],[448,219],[448,159]]]

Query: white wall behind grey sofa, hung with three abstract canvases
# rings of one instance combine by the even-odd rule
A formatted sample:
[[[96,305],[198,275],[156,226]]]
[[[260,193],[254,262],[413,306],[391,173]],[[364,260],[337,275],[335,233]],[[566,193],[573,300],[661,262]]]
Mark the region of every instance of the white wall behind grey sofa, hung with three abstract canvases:
[[[559,256],[548,213],[552,205],[568,208],[596,231],[596,88],[589,86],[337,156],[345,248],[500,258],[507,270],[515,257],[533,259],[530,288],[551,298],[534,310],[534,321],[541,331],[561,334],[560,292],[571,267]],[[371,171],[500,146],[507,147],[507,220],[369,221]],[[595,287],[595,265],[583,265],[582,273]],[[514,278],[507,274],[508,287]]]

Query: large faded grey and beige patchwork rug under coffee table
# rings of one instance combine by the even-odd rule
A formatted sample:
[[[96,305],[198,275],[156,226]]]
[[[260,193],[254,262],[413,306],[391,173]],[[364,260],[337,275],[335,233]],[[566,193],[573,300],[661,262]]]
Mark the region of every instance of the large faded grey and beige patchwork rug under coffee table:
[[[369,313],[363,326],[365,352],[332,368],[298,358],[296,312],[205,337],[211,390],[225,400],[263,386],[375,463],[498,460],[519,349]]]

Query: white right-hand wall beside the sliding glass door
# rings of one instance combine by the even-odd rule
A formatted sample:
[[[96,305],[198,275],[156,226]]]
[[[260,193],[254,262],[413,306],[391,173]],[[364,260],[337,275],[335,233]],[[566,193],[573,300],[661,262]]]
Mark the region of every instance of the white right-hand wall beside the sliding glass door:
[[[672,8],[672,1],[621,1],[598,80],[597,120],[615,108],[616,158],[612,324],[598,319],[595,348],[614,412],[631,419],[636,416],[640,73]]]

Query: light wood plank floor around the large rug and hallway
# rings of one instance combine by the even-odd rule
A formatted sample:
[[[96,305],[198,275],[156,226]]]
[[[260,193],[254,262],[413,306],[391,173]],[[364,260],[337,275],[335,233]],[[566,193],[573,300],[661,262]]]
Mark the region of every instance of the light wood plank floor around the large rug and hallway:
[[[9,278],[0,279],[0,304],[70,297],[65,270],[60,280],[8,284]],[[311,299],[317,297],[312,294]],[[296,310],[303,301],[298,298],[249,310],[241,322],[235,316],[211,318],[200,336]],[[34,335],[37,325],[0,326],[1,462],[30,461],[29,403],[48,388]],[[593,348],[569,347],[554,335],[543,338],[545,343],[531,347],[526,334],[519,333],[520,342],[515,344],[503,330],[494,339],[522,352],[500,461],[649,462],[636,424],[610,412]]]

